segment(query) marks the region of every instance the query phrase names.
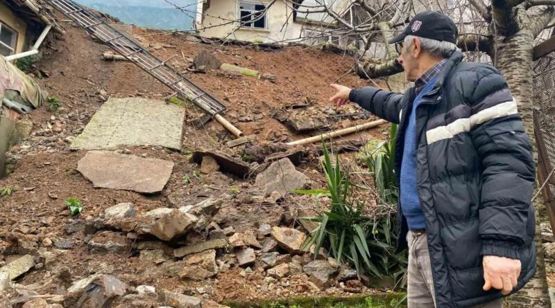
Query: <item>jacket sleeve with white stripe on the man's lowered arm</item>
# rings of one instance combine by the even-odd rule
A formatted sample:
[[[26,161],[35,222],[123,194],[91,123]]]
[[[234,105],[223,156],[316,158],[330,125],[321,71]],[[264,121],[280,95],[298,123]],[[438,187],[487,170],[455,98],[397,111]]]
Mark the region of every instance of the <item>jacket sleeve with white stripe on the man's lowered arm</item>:
[[[468,72],[464,80],[459,84],[466,84],[464,98],[471,107],[470,136],[483,168],[481,255],[520,259],[520,248],[530,243],[533,234],[528,229],[533,228],[529,220],[534,219],[531,197],[536,170],[529,138],[506,80],[495,68]]]

